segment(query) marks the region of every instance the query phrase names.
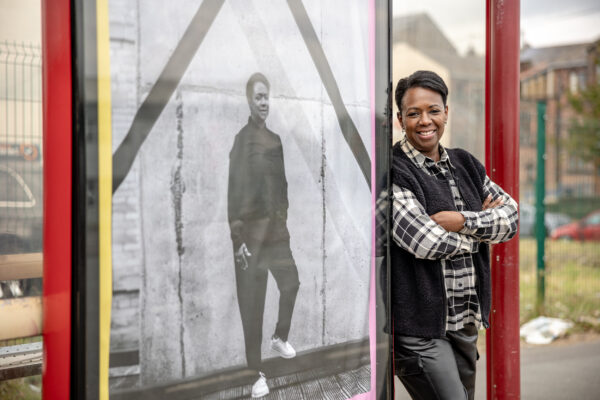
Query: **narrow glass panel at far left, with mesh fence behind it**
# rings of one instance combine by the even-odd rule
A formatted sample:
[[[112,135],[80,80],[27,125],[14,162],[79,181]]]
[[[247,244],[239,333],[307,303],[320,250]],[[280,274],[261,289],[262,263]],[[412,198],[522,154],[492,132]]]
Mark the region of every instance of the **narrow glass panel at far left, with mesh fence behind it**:
[[[40,398],[40,2],[0,1],[0,393]],[[11,362],[16,357],[22,363]],[[14,396],[14,397],[12,397]]]

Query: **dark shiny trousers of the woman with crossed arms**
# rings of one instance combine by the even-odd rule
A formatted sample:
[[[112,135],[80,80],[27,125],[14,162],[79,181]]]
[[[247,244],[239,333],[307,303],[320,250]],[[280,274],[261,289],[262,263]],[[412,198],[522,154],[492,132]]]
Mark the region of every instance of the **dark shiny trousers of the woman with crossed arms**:
[[[476,362],[473,324],[441,339],[394,336],[395,373],[413,399],[473,400]]]

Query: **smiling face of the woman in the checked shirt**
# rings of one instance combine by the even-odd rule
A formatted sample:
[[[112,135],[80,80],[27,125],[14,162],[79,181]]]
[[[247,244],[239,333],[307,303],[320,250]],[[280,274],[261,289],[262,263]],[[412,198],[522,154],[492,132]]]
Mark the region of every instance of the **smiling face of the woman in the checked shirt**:
[[[413,87],[402,98],[402,112],[398,113],[400,125],[414,148],[439,161],[439,143],[448,120],[448,106],[442,96],[433,90]]]

